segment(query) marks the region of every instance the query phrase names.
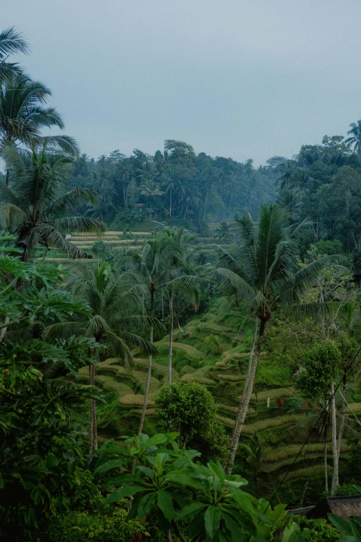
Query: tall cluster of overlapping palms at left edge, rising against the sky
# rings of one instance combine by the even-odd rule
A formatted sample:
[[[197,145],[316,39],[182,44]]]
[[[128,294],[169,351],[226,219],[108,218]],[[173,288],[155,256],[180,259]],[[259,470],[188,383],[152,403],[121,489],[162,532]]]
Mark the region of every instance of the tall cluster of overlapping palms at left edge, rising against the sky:
[[[8,55],[27,52],[26,40],[14,28],[0,34],[0,157],[6,163],[0,224],[17,235],[24,260],[39,245],[87,258],[64,233],[104,230],[96,218],[74,216],[78,206],[95,204],[98,195],[88,188],[66,190],[79,147],[70,136],[42,134],[46,127],[63,129],[64,123],[54,107],[46,107],[50,89],[8,62]]]

